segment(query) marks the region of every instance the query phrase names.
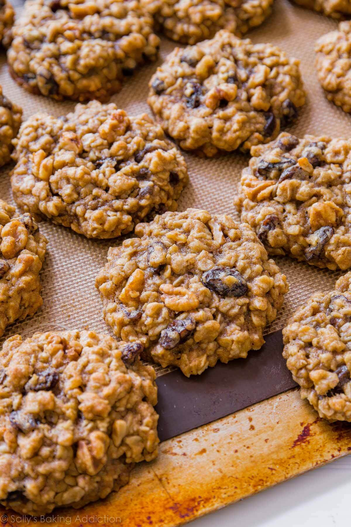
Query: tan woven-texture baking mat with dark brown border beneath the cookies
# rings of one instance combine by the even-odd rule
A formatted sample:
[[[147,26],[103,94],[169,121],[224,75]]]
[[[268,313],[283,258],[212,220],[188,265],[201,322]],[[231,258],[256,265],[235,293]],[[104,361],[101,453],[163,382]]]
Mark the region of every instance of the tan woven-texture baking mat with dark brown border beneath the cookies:
[[[312,11],[296,7],[288,0],[276,0],[273,15],[250,33],[256,43],[272,42],[288,55],[301,61],[307,91],[306,106],[298,123],[291,129],[304,133],[349,136],[350,116],[328,103],[316,79],[314,43],[337,27],[337,23]],[[164,39],[161,54],[169,53],[174,43]],[[5,54],[0,60],[0,84],[13,102],[21,105],[24,117],[35,112],[66,114],[74,108],[71,102],[57,103],[44,97],[29,95],[17,86],[8,74]],[[127,81],[112,101],[131,114],[148,112],[147,83],[156,65],[141,69]],[[242,154],[206,160],[185,154],[190,184],[179,201],[179,210],[198,207],[235,217],[233,197],[240,171],[248,161]],[[8,169],[0,172],[0,197],[13,203]],[[94,287],[98,270],[105,264],[109,245],[116,240],[87,240],[63,227],[43,221],[41,231],[49,240],[48,254],[42,271],[44,306],[31,319],[8,328],[4,338],[19,333],[28,337],[49,329],[83,329],[109,333],[101,317],[101,301]],[[317,269],[288,258],[277,258],[287,275],[290,291],[275,323],[267,328],[266,345],[259,352],[250,352],[245,360],[228,365],[218,364],[199,377],[185,378],[178,370],[157,366],[161,414],[159,432],[162,440],[203,425],[294,386],[285,367],[280,329],[286,318],[310,294],[333,287],[338,273]],[[0,341],[1,343],[1,341]]]

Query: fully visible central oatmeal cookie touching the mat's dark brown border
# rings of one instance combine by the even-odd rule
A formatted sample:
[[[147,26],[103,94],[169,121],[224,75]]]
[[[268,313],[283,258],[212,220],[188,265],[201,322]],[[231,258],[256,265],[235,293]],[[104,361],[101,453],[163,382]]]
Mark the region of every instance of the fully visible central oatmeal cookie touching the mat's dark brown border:
[[[189,376],[259,349],[288,290],[246,224],[205,210],[139,223],[96,278],[106,323]]]

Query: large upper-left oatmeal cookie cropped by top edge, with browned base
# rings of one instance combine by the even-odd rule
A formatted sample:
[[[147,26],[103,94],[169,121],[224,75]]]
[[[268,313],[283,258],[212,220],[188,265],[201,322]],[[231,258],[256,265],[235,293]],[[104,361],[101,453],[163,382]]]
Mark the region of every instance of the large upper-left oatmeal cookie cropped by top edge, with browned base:
[[[29,0],[7,53],[15,81],[35,94],[108,100],[155,60],[159,38],[139,0]]]

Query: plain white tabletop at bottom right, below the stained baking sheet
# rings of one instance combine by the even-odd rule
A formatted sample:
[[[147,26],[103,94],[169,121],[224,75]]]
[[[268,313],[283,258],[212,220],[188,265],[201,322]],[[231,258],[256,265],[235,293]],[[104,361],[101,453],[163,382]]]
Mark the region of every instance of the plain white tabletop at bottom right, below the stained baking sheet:
[[[204,516],[192,527],[351,525],[351,455]]]

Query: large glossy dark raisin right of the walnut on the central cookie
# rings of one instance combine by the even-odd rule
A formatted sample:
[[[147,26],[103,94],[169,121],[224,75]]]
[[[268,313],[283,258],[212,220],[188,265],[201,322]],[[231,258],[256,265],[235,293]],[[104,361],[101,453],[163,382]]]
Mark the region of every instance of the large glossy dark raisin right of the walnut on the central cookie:
[[[226,280],[233,276],[235,281]],[[202,275],[202,282],[211,291],[222,297],[240,297],[247,292],[247,282],[236,269],[230,267],[214,267]]]

